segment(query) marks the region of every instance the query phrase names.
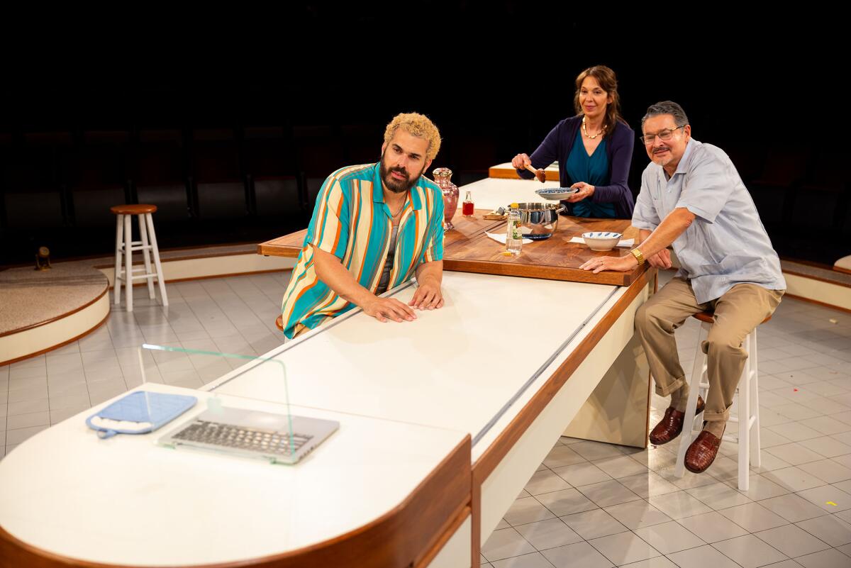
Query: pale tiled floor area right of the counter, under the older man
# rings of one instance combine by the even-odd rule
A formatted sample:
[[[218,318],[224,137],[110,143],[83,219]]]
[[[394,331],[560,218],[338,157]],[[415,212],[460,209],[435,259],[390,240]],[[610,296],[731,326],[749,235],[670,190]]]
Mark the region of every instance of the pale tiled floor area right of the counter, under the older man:
[[[696,332],[694,320],[677,330],[687,372]],[[562,438],[517,500],[536,516],[500,525],[482,565],[851,568],[851,314],[785,298],[757,334],[762,467],[749,491],[738,490],[734,440],[707,472],[677,479],[676,443]],[[654,396],[651,424],[667,405]],[[491,558],[505,531],[523,552]]]

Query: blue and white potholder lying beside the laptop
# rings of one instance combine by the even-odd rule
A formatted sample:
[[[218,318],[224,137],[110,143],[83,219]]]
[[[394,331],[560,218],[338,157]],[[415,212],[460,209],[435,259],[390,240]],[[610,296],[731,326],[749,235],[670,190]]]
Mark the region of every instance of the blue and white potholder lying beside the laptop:
[[[86,418],[86,423],[89,428],[97,430],[100,438],[111,438],[117,434],[146,434],[179,417],[192,406],[195,406],[196,402],[197,398],[194,396],[166,395],[138,390],[116,400],[100,412],[95,412]],[[127,420],[129,422],[149,422],[151,426],[140,430],[109,429],[93,424],[92,418],[94,417]]]

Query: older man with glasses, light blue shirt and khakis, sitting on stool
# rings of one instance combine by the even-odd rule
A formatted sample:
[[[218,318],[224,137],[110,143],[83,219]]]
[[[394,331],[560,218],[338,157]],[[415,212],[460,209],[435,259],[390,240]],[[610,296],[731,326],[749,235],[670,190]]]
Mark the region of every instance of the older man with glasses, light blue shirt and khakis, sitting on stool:
[[[677,357],[674,330],[689,315],[714,310],[714,324],[701,349],[707,355],[709,391],[704,429],[688,447],[685,466],[705,471],[717,456],[747,353],[742,342],[771,315],[785,292],[780,258],[757,207],[730,158],[720,148],[691,137],[683,108],[666,100],[648,108],[641,137],[651,160],[642,174],[632,224],[640,244],[625,257],[594,258],[585,270],[632,270],[646,261],[677,275],[636,313],[656,393],[671,406],[650,441],[665,444],[683,430],[688,383]],[[696,387],[695,387],[696,388]]]

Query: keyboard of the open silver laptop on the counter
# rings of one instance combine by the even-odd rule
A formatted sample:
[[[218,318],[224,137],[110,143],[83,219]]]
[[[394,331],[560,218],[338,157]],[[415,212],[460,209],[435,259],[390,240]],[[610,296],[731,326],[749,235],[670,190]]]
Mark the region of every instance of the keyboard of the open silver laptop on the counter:
[[[196,420],[172,437],[175,440],[193,441],[210,446],[290,456],[294,452],[298,452],[300,447],[304,446],[313,436],[293,433],[294,447],[290,449],[290,437],[287,434],[274,430],[253,429],[234,424]]]

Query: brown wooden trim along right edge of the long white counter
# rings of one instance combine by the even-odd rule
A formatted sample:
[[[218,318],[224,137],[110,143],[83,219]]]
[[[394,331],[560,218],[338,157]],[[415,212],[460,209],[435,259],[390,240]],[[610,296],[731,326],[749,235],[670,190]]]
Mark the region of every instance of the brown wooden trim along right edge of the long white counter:
[[[568,381],[568,378],[580,366],[582,361],[585,361],[585,357],[591,353],[591,350],[594,349],[600,339],[614,325],[614,322],[623,314],[627,306],[647,286],[655,274],[655,269],[645,270],[638,277],[637,281],[633,282],[631,287],[627,288],[624,295],[608,311],[608,314],[585,336],[576,349],[574,349],[574,352],[563,361],[561,366],[546,380],[540,390],[528,400],[526,406],[523,406],[523,409],[517,413],[517,416],[511,420],[511,423],[497,436],[496,440],[488,446],[488,449],[476,460],[476,463],[473,463],[474,487],[481,486],[483,481],[488,478],[488,475],[496,469],[502,458],[511,451],[511,448],[517,443],[517,440],[520,439],[526,429],[528,429],[529,425],[534,422],[534,419],[538,417],[545,406],[557,395],[558,391],[564,386],[564,383]]]

